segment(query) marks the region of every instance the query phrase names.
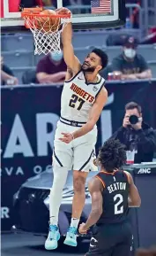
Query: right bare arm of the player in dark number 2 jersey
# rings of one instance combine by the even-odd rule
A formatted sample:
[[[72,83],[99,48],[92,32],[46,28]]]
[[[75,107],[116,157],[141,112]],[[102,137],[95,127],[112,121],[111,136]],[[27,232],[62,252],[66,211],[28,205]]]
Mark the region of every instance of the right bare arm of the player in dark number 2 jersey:
[[[141,198],[139,196],[136,185],[134,184],[133,178],[129,172],[124,171],[129,177],[130,182],[130,192],[129,192],[129,207],[139,207],[141,206]]]

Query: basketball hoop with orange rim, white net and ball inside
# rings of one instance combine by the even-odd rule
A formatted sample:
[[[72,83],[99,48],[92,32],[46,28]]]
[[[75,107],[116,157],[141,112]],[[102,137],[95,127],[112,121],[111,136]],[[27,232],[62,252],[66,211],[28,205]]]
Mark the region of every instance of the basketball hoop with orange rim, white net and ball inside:
[[[63,28],[71,22],[71,18],[56,18],[54,23],[50,17],[25,16],[23,17],[26,27],[30,28],[34,38],[34,55],[54,50],[60,52],[60,37]]]

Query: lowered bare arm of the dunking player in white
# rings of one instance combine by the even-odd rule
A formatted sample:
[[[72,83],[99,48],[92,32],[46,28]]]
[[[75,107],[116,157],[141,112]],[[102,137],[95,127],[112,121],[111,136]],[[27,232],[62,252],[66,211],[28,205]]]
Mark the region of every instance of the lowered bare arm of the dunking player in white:
[[[85,134],[87,134],[93,129],[94,125],[97,123],[97,121],[100,118],[100,113],[102,112],[104,105],[106,105],[107,100],[108,100],[108,91],[107,89],[103,88],[100,90],[100,93],[93,104],[91,112],[89,113],[88,121],[85,123],[85,125],[82,128],[79,128],[78,130],[73,132],[73,136],[75,139],[80,136],[85,136]]]

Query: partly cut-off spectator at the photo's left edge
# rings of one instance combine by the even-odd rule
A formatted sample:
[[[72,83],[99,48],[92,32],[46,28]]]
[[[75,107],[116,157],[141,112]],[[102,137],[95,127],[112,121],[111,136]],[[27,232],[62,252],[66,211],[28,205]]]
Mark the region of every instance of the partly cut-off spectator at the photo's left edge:
[[[11,69],[4,65],[4,58],[1,56],[1,85],[16,85],[18,78],[14,76]]]

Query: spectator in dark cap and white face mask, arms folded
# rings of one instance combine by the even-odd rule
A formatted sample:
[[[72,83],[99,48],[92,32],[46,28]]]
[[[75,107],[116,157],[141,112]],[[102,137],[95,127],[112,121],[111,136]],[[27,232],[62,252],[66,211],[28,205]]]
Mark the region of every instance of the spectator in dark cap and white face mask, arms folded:
[[[151,79],[152,71],[145,58],[137,54],[137,39],[128,35],[123,43],[123,53],[112,61],[114,74],[121,75],[121,79]]]

